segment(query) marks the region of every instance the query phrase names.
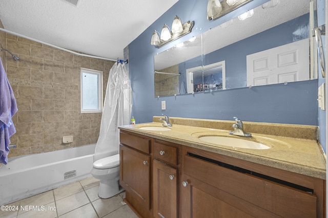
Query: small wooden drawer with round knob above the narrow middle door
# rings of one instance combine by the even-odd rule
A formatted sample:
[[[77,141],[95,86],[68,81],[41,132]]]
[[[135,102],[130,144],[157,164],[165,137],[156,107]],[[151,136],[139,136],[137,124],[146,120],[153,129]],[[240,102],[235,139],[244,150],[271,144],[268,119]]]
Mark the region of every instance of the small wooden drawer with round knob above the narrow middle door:
[[[153,156],[158,160],[162,160],[174,166],[178,164],[178,148],[159,143],[157,140],[154,142]]]

